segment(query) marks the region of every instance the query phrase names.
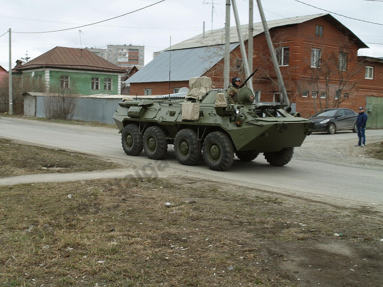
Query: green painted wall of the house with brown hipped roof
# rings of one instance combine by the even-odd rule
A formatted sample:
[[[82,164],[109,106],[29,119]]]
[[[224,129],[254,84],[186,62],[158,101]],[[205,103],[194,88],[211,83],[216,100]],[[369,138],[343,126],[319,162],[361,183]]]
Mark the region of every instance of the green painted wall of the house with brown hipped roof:
[[[69,70],[62,71],[49,71],[49,86],[50,90],[54,91],[60,88],[60,77],[69,76],[69,90],[70,93],[78,93],[82,95],[96,95],[96,94],[118,94],[118,74],[108,75],[103,73],[86,73],[74,72]],[[92,78],[100,78],[100,90],[92,90]],[[112,90],[104,90],[104,78],[112,78]],[[72,90],[73,89],[73,90]]]

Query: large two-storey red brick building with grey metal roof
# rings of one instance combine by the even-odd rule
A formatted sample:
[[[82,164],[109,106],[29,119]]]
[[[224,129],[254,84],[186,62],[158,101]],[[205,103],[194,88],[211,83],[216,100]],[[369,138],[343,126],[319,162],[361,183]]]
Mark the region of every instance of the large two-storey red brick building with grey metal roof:
[[[341,106],[383,104],[383,60],[357,56],[368,48],[352,31],[329,14],[268,21],[280,69],[291,103],[302,116]],[[242,25],[247,46],[248,25]],[[253,77],[257,101],[282,101],[276,84],[262,23],[254,23]],[[230,31],[230,78],[245,78],[236,27]],[[188,86],[190,77],[207,76],[223,88],[224,28],[197,35],[172,46],[170,90]],[[128,79],[131,94],[169,92],[169,48]],[[225,87],[226,88],[226,87]]]

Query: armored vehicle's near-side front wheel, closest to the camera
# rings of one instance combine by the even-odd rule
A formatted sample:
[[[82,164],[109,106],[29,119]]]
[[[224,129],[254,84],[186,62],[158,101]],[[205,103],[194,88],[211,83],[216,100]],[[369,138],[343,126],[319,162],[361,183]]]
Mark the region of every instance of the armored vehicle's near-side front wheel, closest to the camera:
[[[231,139],[223,132],[212,132],[203,141],[203,160],[211,170],[227,170],[234,160]]]

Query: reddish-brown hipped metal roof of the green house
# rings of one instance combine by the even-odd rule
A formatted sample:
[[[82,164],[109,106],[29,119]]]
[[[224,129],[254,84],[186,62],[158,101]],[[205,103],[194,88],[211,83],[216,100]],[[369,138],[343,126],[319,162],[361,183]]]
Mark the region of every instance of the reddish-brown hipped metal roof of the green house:
[[[93,70],[111,73],[125,72],[125,70],[93,54],[87,49],[67,47],[55,47],[22,65],[18,70],[30,70],[41,67]]]

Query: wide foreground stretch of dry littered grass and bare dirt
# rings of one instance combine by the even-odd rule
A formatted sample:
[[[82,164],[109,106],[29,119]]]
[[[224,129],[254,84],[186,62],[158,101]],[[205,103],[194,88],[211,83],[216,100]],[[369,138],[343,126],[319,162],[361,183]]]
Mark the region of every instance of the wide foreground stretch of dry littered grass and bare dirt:
[[[186,176],[2,186],[0,202],[0,286],[383,282],[373,207],[337,209]]]

